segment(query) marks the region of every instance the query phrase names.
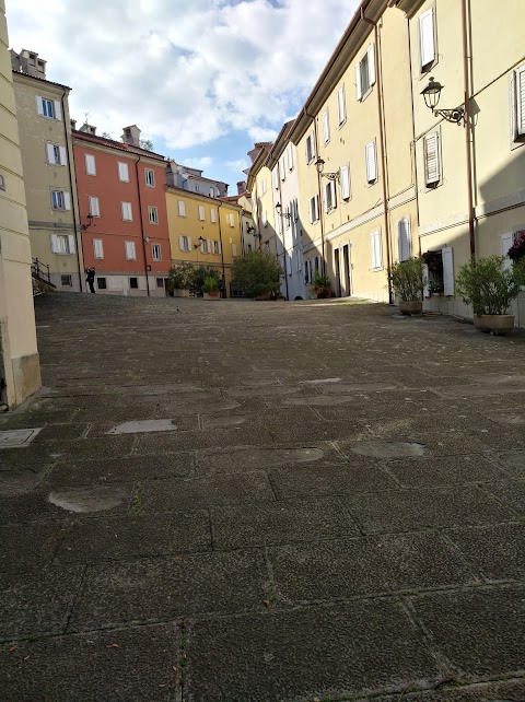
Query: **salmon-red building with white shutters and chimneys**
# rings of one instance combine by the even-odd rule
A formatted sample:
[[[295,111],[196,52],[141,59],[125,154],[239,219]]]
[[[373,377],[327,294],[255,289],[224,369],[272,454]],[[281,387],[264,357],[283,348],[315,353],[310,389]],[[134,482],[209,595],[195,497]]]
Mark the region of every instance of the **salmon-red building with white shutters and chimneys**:
[[[103,294],[165,294],[171,267],[164,156],[140,148],[140,130],[122,141],[73,130],[84,265]]]

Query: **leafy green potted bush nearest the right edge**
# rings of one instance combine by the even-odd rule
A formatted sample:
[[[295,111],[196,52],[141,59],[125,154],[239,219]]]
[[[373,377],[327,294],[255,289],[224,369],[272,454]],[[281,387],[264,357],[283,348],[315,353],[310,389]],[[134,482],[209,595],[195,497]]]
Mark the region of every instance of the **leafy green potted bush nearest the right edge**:
[[[504,335],[514,328],[514,315],[509,305],[525,284],[525,258],[511,267],[503,256],[488,256],[462,266],[456,279],[456,292],[474,311],[474,326],[480,331]]]

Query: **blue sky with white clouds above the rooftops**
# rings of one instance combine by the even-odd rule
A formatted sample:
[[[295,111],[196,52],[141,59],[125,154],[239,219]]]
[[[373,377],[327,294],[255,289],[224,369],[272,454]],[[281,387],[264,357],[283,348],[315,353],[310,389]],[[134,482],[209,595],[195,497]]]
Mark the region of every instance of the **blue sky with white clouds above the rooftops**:
[[[10,47],[69,85],[78,127],[230,184],[300,112],[358,0],[7,0]]]

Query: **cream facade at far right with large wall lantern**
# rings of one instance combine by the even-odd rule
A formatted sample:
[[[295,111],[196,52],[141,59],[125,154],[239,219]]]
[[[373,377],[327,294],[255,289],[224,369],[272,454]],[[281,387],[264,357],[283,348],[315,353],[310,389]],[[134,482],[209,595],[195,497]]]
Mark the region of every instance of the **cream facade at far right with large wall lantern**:
[[[506,255],[525,230],[523,1],[397,5],[410,28],[421,250],[443,265],[431,272],[443,293],[428,306],[471,316],[452,296],[458,268],[471,256]],[[443,86],[436,112],[421,95],[431,78]],[[525,325],[523,293],[513,313]]]

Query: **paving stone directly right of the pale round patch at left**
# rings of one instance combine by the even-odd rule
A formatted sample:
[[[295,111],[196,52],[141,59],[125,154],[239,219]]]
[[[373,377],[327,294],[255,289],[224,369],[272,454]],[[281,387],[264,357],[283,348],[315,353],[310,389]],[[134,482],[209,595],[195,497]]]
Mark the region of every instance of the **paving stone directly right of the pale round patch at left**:
[[[273,491],[262,471],[243,476],[211,476],[188,480],[155,480],[145,485],[141,511],[173,512],[201,506],[273,502]]]

